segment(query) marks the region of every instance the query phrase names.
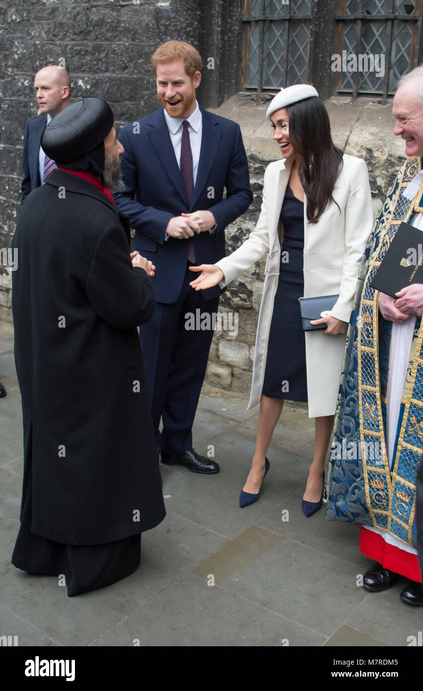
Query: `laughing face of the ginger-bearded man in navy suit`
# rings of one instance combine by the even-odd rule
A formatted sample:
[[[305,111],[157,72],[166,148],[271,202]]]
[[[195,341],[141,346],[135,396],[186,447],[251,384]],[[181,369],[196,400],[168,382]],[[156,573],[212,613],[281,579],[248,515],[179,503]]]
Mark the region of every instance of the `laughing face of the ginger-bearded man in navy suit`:
[[[170,117],[186,120],[194,113],[195,89],[200,82],[201,73],[187,75],[183,60],[157,65],[157,97]]]

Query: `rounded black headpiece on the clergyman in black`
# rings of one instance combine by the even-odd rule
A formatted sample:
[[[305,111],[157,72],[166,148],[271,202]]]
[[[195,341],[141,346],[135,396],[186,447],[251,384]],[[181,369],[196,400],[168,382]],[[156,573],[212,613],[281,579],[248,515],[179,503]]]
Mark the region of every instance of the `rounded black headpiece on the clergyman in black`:
[[[104,170],[104,138],[115,118],[101,98],[83,98],[63,108],[48,123],[41,148],[57,165],[100,175]]]

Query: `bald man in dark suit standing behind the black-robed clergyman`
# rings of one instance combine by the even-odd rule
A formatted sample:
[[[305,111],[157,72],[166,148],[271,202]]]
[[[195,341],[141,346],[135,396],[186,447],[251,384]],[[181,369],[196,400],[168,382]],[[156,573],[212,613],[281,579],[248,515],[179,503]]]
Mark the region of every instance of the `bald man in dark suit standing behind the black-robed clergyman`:
[[[21,202],[33,189],[40,187],[55,168],[55,162],[46,159],[41,149],[41,135],[52,117],[70,104],[69,74],[63,67],[47,65],[35,75],[34,88],[41,115],[27,123],[23,138]]]

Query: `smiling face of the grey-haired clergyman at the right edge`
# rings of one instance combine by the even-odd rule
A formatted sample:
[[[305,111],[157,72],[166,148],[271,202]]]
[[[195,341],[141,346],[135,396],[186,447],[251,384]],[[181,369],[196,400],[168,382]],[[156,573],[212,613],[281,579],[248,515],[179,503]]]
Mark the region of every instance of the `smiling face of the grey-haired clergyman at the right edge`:
[[[393,97],[393,133],[405,140],[407,156],[423,156],[423,105],[417,96],[417,80],[405,82]]]

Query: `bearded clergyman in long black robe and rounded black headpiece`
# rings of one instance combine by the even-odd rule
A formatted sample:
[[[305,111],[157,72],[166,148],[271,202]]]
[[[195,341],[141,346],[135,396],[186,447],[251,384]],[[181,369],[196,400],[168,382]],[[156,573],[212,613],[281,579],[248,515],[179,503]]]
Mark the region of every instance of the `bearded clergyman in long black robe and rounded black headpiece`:
[[[24,445],[12,564],[65,576],[69,596],[135,571],[141,533],[165,515],[137,335],[155,267],[130,254],[112,200],[123,149],[113,122],[96,98],[53,118],[42,146],[57,170],[28,196],[12,240]]]

